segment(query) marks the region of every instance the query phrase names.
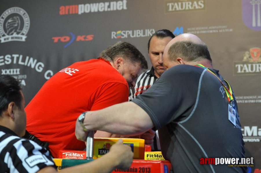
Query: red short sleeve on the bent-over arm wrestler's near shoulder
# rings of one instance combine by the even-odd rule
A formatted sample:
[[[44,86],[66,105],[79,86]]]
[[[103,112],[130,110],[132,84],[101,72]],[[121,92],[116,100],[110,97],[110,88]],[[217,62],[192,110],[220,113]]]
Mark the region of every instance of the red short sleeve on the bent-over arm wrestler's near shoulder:
[[[93,105],[91,111],[100,110],[114,104],[128,101],[129,88],[126,84],[109,82],[98,87],[92,94]]]

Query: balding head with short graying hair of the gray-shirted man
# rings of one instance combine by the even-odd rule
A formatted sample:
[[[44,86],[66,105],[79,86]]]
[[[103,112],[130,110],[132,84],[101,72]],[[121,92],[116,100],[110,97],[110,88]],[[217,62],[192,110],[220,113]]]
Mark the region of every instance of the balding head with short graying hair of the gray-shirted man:
[[[166,45],[163,54],[165,67],[172,67],[178,64],[196,65],[198,63],[212,68],[212,60],[208,48],[196,35],[184,33],[173,38]]]

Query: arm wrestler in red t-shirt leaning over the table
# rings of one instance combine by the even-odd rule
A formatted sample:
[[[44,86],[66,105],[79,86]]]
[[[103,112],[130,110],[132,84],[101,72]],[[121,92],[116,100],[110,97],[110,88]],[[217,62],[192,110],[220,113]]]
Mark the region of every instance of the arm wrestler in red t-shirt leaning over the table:
[[[148,65],[141,52],[129,43],[117,42],[102,51],[98,59],[61,69],[26,106],[27,131],[48,142],[54,158],[61,149],[83,150],[85,143],[74,134],[78,116],[128,101],[129,87],[135,86],[142,68]],[[143,138],[152,142],[154,133],[144,133]],[[97,131],[94,137],[120,136]]]

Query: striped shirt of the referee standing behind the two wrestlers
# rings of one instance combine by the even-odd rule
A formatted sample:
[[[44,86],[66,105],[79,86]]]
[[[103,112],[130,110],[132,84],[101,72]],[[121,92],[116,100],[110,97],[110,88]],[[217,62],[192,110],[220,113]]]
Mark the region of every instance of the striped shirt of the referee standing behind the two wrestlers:
[[[139,75],[137,82],[134,88],[130,88],[129,92],[129,101],[136,98],[138,95],[144,93],[147,89],[150,88],[158,80],[157,76],[154,73],[154,68],[151,67],[150,70],[143,72]],[[153,129],[156,130],[156,129]],[[152,151],[160,151],[160,144],[159,144],[159,134],[156,130],[156,134],[154,137],[153,145],[151,146]]]

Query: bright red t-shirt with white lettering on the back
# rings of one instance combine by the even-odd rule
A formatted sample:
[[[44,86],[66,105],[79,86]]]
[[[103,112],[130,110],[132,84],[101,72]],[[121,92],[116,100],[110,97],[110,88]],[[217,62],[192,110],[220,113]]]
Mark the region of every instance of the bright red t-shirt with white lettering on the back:
[[[75,137],[78,116],[128,101],[123,76],[108,61],[92,59],[74,63],[47,80],[26,106],[29,133],[49,142],[54,158],[61,149],[83,150]]]

